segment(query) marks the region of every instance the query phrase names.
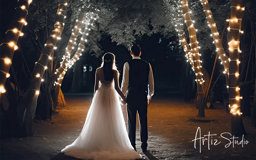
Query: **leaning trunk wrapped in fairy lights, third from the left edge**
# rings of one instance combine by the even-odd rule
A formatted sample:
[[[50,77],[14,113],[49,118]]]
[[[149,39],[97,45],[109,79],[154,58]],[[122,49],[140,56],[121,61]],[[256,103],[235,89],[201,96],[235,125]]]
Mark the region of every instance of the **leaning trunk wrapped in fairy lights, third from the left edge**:
[[[66,47],[65,54],[62,57],[62,62],[60,62],[60,67],[56,70],[55,75],[53,76],[53,82],[57,80],[57,78],[61,75],[61,73],[66,69],[66,65],[70,59],[70,54],[74,49],[74,44],[76,44],[76,38],[81,30],[82,23],[84,19],[84,14],[80,14],[75,22],[74,28],[72,29],[71,36],[68,40],[68,45]]]

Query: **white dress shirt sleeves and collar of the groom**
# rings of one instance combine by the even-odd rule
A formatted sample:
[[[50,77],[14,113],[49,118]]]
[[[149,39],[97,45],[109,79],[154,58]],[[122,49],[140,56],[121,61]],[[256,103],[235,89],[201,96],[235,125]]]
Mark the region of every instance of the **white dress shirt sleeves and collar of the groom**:
[[[132,59],[140,59],[140,57],[133,57]],[[148,63],[149,64],[149,63]],[[124,63],[124,73],[123,73],[123,81],[121,86],[121,91],[125,95],[128,89],[129,83],[129,63]],[[148,99],[151,100],[151,97],[154,94],[154,78],[151,65],[149,64],[149,73],[148,73]]]

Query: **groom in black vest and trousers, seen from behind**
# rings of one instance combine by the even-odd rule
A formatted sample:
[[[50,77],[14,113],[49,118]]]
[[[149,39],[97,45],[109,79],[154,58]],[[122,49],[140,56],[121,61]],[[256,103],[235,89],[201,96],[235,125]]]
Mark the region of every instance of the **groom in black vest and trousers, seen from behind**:
[[[132,60],[124,64],[121,91],[126,94],[128,135],[132,147],[136,150],[136,114],[140,120],[140,140],[142,152],[148,152],[148,105],[154,94],[154,78],[151,65],[140,59],[140,46],[132,45]],[[121,101],[123,104],[124,102]]]

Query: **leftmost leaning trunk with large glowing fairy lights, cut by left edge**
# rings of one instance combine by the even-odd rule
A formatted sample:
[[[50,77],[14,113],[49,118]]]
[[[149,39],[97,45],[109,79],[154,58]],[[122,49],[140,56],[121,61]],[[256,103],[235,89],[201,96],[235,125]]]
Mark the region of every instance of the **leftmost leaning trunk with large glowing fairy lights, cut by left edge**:
[[[24,35],[21,32],[23,25],[26,26],[28,24],[26,17],[31,2],[32,0],[18,0],[18,7],[14,9],[14,20],[6,31],[0,46],[0,94],[6,92],[4,84],[6,78],[10,77],[9,70],[12,65],[14,51],[18,49],[18,39],[20,36]]]

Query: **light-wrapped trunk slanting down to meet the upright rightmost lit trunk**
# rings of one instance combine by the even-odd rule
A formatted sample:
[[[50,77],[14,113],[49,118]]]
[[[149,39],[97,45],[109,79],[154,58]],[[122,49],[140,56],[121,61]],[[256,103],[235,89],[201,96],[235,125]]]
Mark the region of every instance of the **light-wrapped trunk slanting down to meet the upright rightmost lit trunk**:
[[[229,76],[228,56],[226,55],[225,50],[223,48],[222,41],[221,41],[221,38],[220,38],[220,34],[218,32],[216,23],[213,19],[212,11],[211,11],[210,6],[208,4],[208,0],[201,0],[201,1],[202,1],[202,5],[203,5],[203,8],[204,8],[204,13],[205,13],[207,22],[209,23],[208,26],[210,27],[211,32],[212,32],[212,34],[211,34],[211,36],[213,38],[212,43],[214,43],[215,46],[216,46],[216,51],[219,55],[219,59],[221,60],[220,64],[222,64],[224,66],[225,73],[227,73],[228,76]]]

